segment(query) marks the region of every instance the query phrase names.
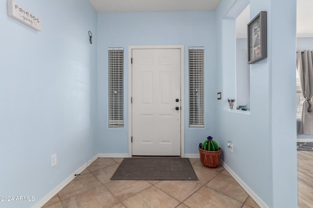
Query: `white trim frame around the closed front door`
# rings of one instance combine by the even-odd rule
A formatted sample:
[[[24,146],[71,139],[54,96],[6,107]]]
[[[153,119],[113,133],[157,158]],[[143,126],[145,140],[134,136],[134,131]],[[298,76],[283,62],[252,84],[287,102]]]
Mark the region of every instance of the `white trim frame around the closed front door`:
[[[184,130],[184,46],[183,45],[130,45],[128,46],[128,156],[133,156],[132,149],[132,50],[133,49],[180,49],[180,157],[185,157],[185,130]]]

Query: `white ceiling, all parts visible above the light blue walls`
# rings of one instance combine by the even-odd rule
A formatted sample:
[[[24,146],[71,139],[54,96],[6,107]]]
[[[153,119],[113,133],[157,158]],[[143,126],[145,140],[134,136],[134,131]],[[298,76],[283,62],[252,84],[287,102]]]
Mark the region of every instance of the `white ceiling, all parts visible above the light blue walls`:
[[[214,11],[221,0],[89,0],[98,12]],[[297,37],[313,37],[313,0],[297,0]],[[246,37],[249,8],[237,18],[237,37]]]

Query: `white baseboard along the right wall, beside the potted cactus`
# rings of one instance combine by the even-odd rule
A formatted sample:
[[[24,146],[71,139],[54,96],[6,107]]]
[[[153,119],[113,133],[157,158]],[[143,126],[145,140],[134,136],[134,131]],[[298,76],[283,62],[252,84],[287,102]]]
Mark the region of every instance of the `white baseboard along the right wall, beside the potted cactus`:
[[[221,165],[224,167],[227,172],[237,181],[237,183],[246,191],[246,193],[255,201],[255,203],[260,208],[269,208],[268,205],[258,196],[252,189],[250,189],[241,178],[236,175],[234,171],[232,171],[225,163],[224,161],[221,161]]]

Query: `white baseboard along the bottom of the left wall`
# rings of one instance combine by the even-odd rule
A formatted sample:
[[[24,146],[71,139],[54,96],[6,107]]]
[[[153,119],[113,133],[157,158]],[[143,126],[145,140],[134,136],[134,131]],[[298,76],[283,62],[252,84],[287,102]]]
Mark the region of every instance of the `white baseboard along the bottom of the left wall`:
[[[47,203],[50,199],[52,199],[53,196],[55,196],[57,193],[59,193],[60,190],[62,190],[64,187],[69,184],[74,178],[75,174],[80,174],[83,170],[85,170],[91,163],[93,163],[98,158],[98,154],[92,157],[87,163],[82,165],[80,168],[78,168],[76,171],[74,171],[70,176],[67,177],[59,186],[57,186],[55,189],[51,190],[44,198],[42,198],[39,202],[37,202],[32,208],[41,208]]]

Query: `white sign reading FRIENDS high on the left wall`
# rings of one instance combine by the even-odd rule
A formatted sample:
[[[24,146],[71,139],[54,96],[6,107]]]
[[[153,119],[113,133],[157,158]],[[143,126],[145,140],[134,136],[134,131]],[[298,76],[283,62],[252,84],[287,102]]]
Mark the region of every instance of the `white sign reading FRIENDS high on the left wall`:
[[[41,19],[37,15],[25,9],[13,0],[7,0],[7,3],[8,16],[22,22],[34,30],[41,31]]]

